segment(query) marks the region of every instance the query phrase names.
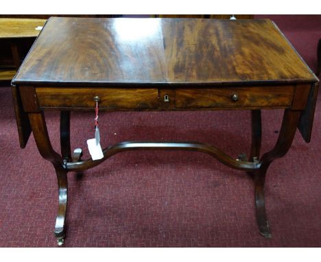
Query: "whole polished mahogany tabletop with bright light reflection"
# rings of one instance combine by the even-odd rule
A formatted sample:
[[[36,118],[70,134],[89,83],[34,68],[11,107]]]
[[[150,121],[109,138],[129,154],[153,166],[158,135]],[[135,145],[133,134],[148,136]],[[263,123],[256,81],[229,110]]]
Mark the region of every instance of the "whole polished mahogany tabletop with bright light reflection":
[[[317,81],[270,20],[51,17],[13,83],[221,86]]]

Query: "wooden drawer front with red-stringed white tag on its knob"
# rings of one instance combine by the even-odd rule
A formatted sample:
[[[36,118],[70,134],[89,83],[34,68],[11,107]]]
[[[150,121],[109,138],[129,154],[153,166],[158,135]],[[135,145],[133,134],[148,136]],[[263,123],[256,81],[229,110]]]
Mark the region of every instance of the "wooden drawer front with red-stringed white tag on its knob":
[[[40,108],[94,108],[99,96],[100,108],[148,109],[158,106],[157,88],[36,88]]]

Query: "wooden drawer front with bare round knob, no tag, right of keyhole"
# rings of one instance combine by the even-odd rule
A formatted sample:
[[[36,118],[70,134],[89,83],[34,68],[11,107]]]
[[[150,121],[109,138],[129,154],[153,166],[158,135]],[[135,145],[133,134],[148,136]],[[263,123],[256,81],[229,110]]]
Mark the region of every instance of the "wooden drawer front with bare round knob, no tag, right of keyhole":
[[[287,108],[294,86],[178,88],[176,108]]]

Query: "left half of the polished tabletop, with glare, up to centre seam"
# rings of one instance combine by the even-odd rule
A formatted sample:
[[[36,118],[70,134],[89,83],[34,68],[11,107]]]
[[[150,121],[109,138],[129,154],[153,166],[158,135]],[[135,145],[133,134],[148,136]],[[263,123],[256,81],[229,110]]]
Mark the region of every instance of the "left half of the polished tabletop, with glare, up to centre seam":
[[[166,82],[160,21],[144,21],[49,19],[16,81]]]

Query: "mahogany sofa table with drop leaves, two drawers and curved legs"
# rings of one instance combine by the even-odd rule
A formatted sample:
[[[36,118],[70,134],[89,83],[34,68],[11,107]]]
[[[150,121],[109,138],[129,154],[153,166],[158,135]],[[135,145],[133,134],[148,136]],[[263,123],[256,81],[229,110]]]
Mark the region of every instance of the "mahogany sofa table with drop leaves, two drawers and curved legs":
[[[194,150],[246,171],[254,180],[259,231],[271,237],[263,187],[268,167],[284,156],[298,128],[309,143],[318,78],[270,20],[51,18],[29,51],[12,92],[21,147],[33,132],[56,170],[54,230],[65,237],[67,173],[126,150]],[[206,143],[121,142],[101,160],[71,155],[70,111],[251,110],[248,158],[233,159]],[[284,109],[278,140],[260,158],[261,110]],[[61,154],[51,147],[44,110],[60,110]]]

